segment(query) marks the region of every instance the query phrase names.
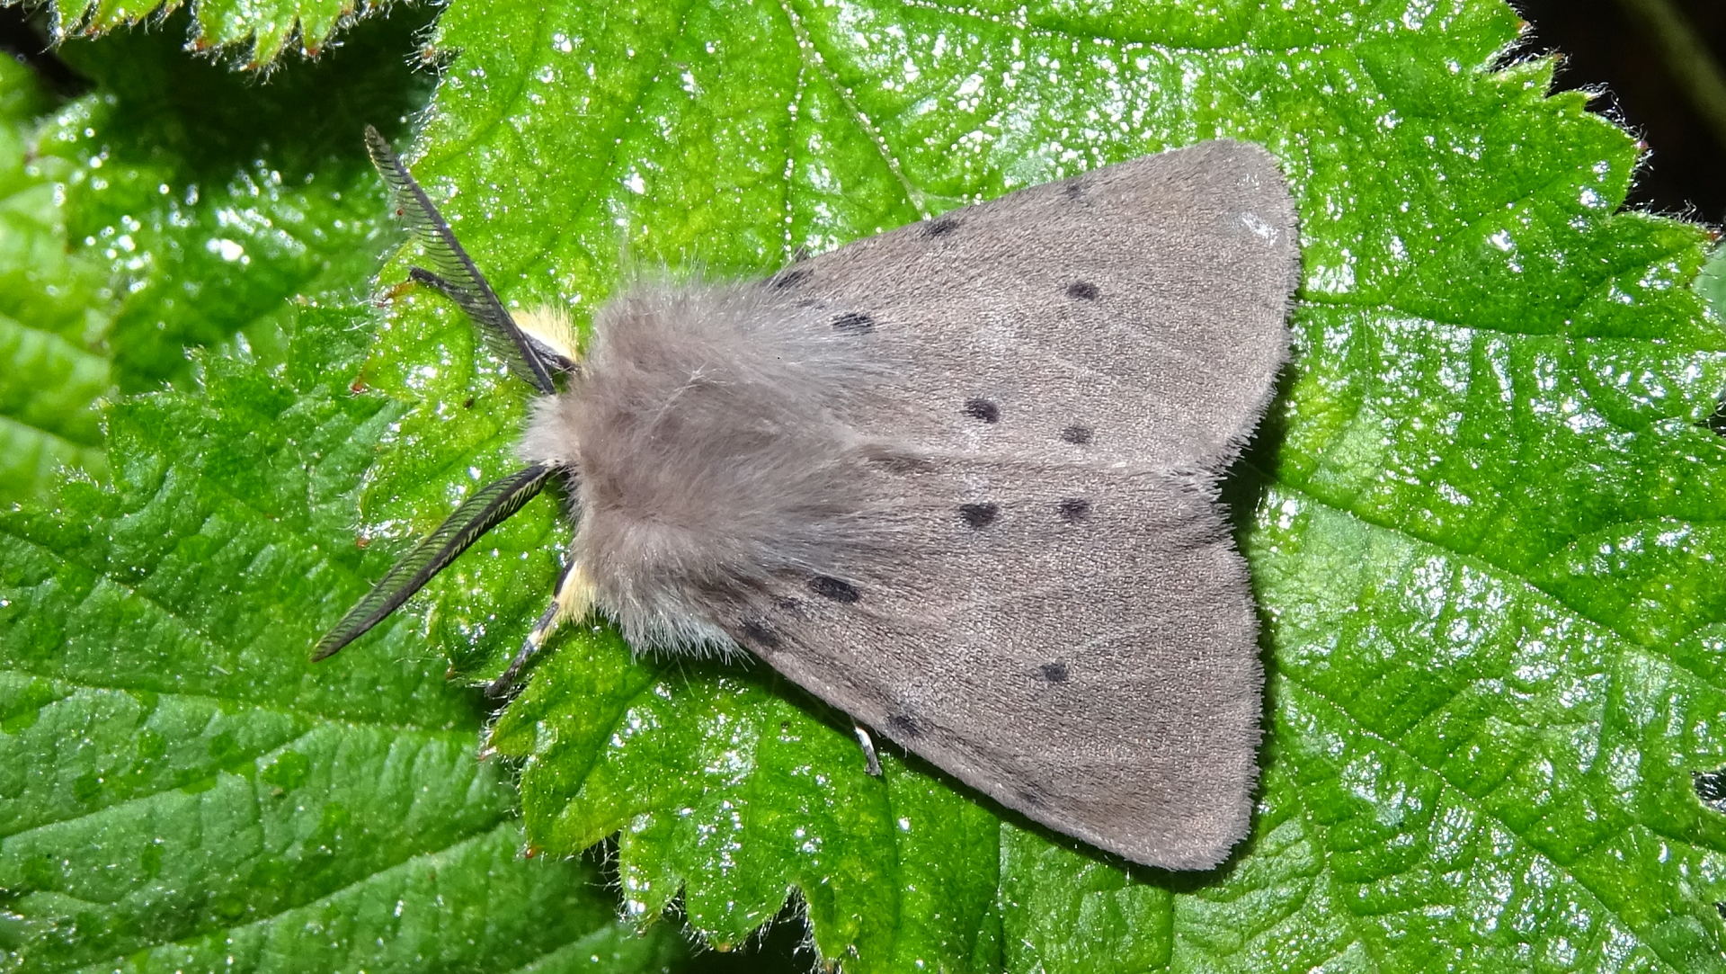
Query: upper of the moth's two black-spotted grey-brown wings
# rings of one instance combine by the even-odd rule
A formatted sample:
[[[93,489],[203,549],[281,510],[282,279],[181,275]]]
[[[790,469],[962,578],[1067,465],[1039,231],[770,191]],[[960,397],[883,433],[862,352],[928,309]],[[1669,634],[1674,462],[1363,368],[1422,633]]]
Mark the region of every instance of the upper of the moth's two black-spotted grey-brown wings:
[[[770,287],[898,370],[872,432],[1213,470],[1270,399],[1298,259],[1276,159],[1206,142],[860,240]]]

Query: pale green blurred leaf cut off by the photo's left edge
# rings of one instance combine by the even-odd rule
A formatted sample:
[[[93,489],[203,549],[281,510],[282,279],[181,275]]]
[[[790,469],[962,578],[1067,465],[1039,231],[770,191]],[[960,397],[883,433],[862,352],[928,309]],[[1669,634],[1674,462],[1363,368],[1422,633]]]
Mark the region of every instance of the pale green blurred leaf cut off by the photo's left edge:
[[[54,181],[31,161],[50,107],[28,67],[0,59],[0,503],[40,494],[62,466],[105,471],[112,311],[97,268],[67,256]]]

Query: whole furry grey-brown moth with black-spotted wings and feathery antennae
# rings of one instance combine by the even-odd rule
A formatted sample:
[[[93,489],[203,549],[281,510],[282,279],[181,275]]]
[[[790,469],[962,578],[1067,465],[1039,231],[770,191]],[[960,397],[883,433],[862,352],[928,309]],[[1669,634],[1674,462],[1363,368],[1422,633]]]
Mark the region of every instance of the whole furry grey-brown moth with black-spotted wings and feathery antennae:
[[[751,281],[623,287],[576,347],[511,316],[375,130],[433,268],[539,392],[469,496],[319,642],[407,601],[557,478],[551,608],[642,651],[747,649],[999,805],[1131,862],[1246,836],[1258,623],[1217,482],[1288,354],[1294,204],[1206,142],[1030,187]],[[865,737],[866,741],[866,737]]]

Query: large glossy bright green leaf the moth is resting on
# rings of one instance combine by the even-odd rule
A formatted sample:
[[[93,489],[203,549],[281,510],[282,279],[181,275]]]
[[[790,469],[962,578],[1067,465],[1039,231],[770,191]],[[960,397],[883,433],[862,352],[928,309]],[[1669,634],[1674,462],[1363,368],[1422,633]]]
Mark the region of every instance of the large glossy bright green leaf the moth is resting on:
[[[1265,143],[1301,209],[1239,490],[1270,701],[1238,860],[1124,870],[917,762],[866,777],[761,667],[594,630],[492,730],[532,841],[621,832],[628,912],[682,891],[721,945],[799,889],[847,971],[1726,969],[1726,820],[1690,782],[1726,756],[1704,233],[1616,212],[1635,142],[1505,60],[1517,29],[1498,0],[452,3],[411,162],[506,302],[587,316],[625,250],[759,275],[1212,136]],[[390,314],[366,376],[414,406],[364,511],[400,547],[507,470],[523,390],[433,295]],[[475,674],[568,530],[521,522],[423,603]]]

